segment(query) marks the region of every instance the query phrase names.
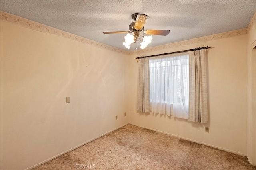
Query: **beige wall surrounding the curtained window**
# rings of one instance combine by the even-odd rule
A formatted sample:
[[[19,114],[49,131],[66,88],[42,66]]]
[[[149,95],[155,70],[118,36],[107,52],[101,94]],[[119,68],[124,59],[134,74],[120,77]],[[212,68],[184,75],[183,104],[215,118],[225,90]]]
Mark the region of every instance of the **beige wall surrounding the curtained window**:
[[[212,40],[210,42],[163,49],[153,53],[168,53],[211,46],[207,50],[209,122],[192,123],[164,115],[136,112],[136,56],[130,57],[129,122],[180,138],[246,155],[247,142],[247,35]],[[210,132],[204,132],[209,127]]]

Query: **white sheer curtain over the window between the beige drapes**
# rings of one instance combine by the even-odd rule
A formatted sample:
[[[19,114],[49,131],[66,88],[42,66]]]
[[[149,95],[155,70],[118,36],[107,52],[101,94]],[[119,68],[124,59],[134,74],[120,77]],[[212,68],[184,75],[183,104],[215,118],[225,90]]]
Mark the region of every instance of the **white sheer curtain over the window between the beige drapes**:
[[[150,112],[188,119],[188,53],[150,58]]]

